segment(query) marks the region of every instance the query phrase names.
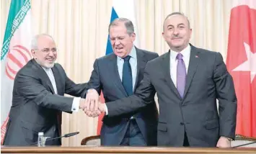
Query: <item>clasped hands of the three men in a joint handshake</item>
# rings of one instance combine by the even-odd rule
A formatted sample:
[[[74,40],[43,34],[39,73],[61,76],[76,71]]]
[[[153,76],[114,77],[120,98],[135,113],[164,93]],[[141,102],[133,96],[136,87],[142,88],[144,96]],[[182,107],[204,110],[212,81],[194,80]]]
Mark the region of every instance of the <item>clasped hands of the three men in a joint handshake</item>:
[[[105,111],[105,104],[100,102],[100,96],[95,89],[87,91],[86,99],[80,99],[79,109],[83,109],[84,113],[89,117],[98,117]]]

